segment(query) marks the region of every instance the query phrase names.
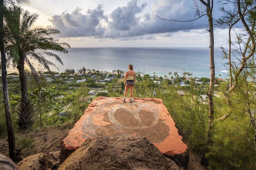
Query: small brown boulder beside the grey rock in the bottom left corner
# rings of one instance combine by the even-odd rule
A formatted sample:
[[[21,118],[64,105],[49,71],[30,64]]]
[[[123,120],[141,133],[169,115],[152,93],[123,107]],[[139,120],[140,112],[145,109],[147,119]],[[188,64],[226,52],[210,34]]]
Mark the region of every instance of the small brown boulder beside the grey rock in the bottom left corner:
[[[37,153],[22,159],[18,164],[19,170],[45,170],[46,169],[46,155],[44,153]]]

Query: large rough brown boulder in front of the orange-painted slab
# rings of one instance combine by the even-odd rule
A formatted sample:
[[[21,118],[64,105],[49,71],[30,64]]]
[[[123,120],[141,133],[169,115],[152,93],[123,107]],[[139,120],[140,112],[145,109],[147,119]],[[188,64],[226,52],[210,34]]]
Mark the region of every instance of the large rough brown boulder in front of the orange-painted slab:
[[[178,170],[180,168],[145,137],[121,136],[88,138],[58,168],[58,170],[67,169]]]

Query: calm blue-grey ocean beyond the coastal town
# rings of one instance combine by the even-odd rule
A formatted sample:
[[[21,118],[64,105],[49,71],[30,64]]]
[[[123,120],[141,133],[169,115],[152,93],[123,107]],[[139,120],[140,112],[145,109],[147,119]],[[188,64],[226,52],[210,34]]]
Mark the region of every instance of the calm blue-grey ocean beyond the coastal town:
[[[169,72],[173,75],[177,71],[182,76],[185,71],[193,77],[210,77],[209,48],[69,48],[68,51],[68,54],[56,53],[63,65],[46,57],[59,68],[51,67],[52,71],[82,67],[107,72],[126,71],[132,64],[134,71],[149,75],[169,76]],[[224,66],[227,60],[222,58],[221,50],[215,48],[214,55],[215,77],[228,78],[228,69]]]

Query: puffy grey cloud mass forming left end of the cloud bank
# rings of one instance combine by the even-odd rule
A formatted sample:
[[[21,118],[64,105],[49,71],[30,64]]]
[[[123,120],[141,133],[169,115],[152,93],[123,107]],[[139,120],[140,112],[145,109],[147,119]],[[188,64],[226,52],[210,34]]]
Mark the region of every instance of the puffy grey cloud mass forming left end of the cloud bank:
[[[48,20],[53,27],[61,31],[61,37],[102,36],[106,28],[100,24],[100,20],[107,20],[102,6],[98,4],[96,9],[88,9],[86,14],[82,14],[81,10],[81,8],[76,7],[71,13],[63,12]]]

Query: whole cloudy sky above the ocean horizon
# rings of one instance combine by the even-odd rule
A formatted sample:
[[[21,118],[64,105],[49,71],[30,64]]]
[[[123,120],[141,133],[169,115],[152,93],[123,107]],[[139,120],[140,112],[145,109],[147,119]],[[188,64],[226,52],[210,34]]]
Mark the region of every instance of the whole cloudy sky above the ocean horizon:
[[[220,15],[217,5],[215,18]],[[54,38],[73,48],[209,47],[207,16],[192,22],[156,16],[194,19],[192,0],[30,0],[22,8],[39,14],[34,27],[59,29]],[[215,47],[227,44],[227,35],[226,29],[216,28]]]

